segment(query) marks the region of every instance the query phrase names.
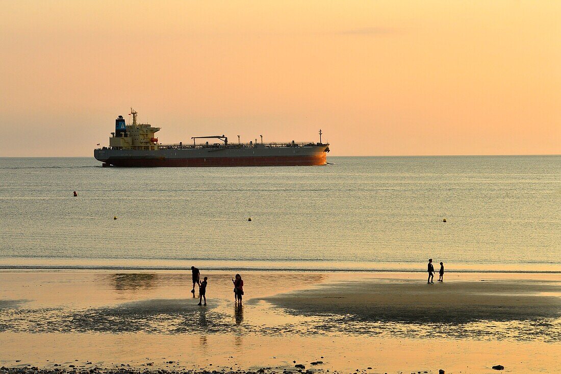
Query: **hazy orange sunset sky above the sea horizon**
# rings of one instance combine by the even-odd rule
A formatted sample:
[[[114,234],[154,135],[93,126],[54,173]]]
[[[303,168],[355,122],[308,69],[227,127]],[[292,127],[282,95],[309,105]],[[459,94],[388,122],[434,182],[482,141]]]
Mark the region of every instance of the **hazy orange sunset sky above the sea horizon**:
[[[0,156],[160,142],[332,155],[561,153],[559,1],[2,1]],[[127,116],[128,117],[128,116]]]

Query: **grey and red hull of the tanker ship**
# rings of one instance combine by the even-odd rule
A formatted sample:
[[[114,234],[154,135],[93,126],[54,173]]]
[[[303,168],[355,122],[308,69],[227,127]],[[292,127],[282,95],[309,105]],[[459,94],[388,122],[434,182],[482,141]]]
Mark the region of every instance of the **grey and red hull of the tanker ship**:
[[[95,149],[94,157],[105,166],[218,167],[218,166],[314,166],[327,163],[325,145],[282,148],[208,149]]]

